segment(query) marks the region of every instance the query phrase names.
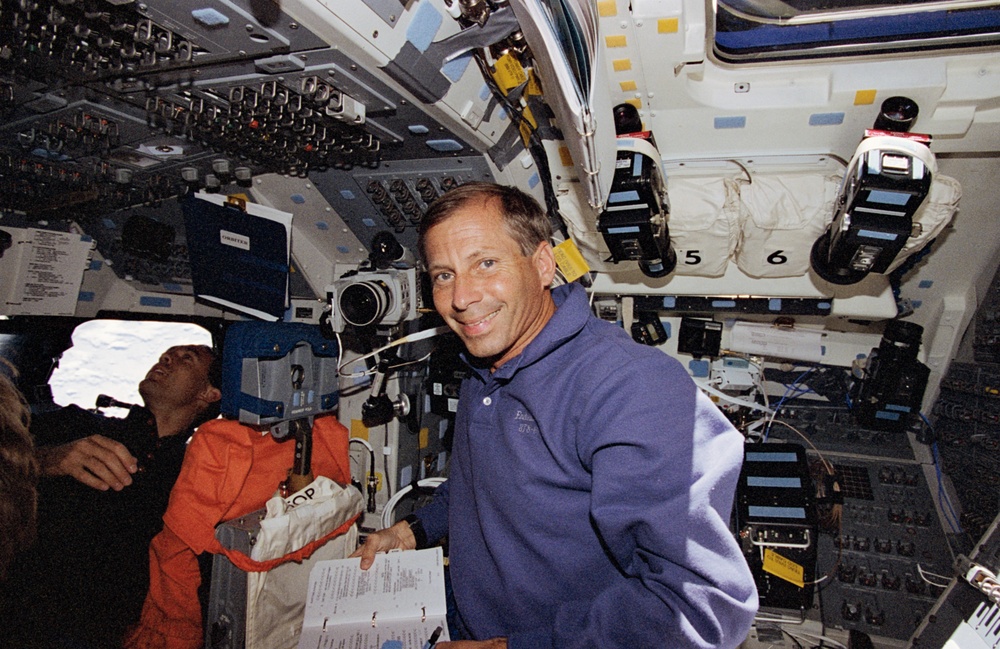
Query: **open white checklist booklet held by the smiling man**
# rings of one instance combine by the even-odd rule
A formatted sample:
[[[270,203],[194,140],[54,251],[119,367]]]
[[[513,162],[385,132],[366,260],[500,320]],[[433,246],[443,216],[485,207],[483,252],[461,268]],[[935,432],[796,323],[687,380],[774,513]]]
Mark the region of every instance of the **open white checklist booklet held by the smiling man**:
[[[320,561],[309,576],[299,649],[422,649],[448,640],[441,548]]]

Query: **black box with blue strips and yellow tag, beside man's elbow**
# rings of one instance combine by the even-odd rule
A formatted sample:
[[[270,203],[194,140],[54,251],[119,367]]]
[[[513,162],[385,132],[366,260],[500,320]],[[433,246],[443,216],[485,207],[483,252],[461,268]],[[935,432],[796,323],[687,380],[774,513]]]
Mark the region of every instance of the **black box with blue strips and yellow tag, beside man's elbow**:
[[[805,448],[745,446],[736,487],[736,534],[762,608],[805,611],[812,606],[818,533],[814,493]]]

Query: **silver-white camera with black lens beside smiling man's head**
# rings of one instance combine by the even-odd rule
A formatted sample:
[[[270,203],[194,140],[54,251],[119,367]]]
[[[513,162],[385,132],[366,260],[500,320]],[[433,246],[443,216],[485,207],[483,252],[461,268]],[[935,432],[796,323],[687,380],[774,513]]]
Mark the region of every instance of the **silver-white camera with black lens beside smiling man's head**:
[[[413,268],[359,271],[326,287],[330,325],[341,333],[348,326],[397,325],[417,317],[417,272]]]

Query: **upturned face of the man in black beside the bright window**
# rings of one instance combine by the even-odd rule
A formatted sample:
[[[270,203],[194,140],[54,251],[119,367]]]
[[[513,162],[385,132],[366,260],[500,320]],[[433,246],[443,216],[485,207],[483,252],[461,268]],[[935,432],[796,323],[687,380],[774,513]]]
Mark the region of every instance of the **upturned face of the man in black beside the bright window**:
[[[201,345],[181,345],[163,352],[139,383],[139,394],[146,405],[187,406],[197,399],[214,401],[215,390],[208,382],[212,354]]]

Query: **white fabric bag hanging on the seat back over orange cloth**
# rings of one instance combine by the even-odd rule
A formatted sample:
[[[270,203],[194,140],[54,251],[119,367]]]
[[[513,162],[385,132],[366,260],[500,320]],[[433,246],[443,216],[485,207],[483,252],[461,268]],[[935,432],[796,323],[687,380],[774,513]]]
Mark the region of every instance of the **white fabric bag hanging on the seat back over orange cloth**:
[[[325,477],[287,498],[267,501],[267,514],[250,558],[278,559],[343,526],[364,508],[357,489]],[[327,541],[308,559],[247,573],[246,649],[294,649],[302,631],[309,572],[317,561],[343,559],[358,544],[358,528]]]

